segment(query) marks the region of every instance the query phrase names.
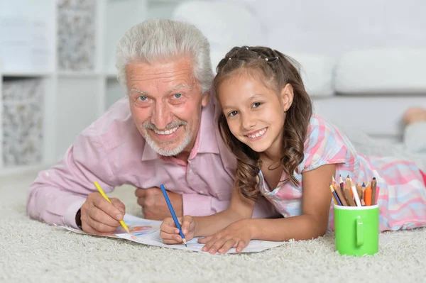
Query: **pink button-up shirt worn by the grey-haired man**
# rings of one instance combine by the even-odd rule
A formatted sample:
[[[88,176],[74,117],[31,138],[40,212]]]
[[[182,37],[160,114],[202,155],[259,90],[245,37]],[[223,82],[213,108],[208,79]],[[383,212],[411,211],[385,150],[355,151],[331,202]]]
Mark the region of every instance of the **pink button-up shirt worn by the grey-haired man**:
[[[38,174],[31,184],[27,212],[31,218],[76,226],[75,214],[97,181],[105,192],[131,184],[160,187],[182,194],[183,213],[207,216],[226,209],[231,199],[236,160],[217,129],[219,109],[211,99],[202,110],[200,131],[187,164],[161,157],[145,142],[133,123],[128,99],[121,99],[92,123],[57,165]],[[253,217],[276,216],[259,199]]]

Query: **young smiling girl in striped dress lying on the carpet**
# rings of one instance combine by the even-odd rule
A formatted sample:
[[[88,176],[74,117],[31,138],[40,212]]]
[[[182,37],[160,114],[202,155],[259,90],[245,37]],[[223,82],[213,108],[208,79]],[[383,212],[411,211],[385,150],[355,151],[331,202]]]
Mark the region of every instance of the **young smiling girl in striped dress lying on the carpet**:
[[[333,229],[332,176],[380,187],[380,231],[426,224],[426,188],[408,160],[366,157],[324,118],[312,114],[295,62],[263,47],[233,48],[214,79],[222,106],[219,129],[238,162],[229,209],[212,216],[184,216],[186,240],[205,236],[204,251],[241,251],[251,239],[305,240]],[[356,113],[347,113],[356,116]],[[251,218],[264,196],[283,218]],[[172,218],[161,225],[164,243],[182,243]]]

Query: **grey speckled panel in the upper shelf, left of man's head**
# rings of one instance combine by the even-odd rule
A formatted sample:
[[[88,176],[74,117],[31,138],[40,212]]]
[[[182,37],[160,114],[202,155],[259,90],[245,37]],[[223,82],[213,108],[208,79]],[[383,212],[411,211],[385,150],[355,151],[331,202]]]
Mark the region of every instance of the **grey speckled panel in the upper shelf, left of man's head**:
[[[96,2],[58,0],[58,70],[94,70]]]

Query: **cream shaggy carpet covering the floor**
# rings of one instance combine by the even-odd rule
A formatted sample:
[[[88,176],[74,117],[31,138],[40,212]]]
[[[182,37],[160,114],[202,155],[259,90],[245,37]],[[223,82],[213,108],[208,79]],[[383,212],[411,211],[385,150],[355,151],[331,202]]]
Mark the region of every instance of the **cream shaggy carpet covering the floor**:
[[[25,206],[34,177],[0,179],[0,282],[426,282],[426,229],[383,233],[370,257],[337,255],[331,234],[262,253],[206,255],[32,221]],[[114,195],[141,216],[133,188]]]

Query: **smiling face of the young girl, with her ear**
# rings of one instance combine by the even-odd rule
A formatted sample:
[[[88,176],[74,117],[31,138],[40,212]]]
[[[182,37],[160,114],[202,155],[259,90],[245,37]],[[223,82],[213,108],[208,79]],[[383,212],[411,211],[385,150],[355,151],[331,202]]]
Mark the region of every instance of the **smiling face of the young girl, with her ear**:
[[[280,156],[285,110],[293,100],[258,79],[238,74],[219,85],[218,96],[231,133],[256,152]],[[291,88],[291,87],[290,87]]]

